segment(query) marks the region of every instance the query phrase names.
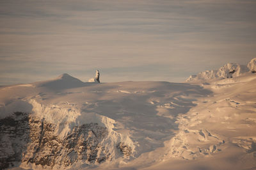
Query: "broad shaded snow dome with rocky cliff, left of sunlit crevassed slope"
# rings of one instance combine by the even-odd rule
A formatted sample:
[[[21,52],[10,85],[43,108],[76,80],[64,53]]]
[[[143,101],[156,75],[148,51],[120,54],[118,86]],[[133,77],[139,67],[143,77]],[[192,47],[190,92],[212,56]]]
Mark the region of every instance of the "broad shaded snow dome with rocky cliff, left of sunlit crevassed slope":
[[[163,147],[178,128],[177,116],[195,106],[195,97],[210,93],[170,82],[85,85],[64,74],[1,88],[1,120],[15,122],[0,127],[1,167],[122,166]],[[21,148],[13,148],[22,129]]]

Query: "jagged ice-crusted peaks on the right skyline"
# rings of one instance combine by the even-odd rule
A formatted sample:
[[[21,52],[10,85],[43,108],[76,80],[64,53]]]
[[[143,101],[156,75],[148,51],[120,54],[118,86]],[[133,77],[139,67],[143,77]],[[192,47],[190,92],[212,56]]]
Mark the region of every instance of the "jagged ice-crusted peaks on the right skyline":
[[[237,77],[242,73],[248,71],[256,70],[256,58],[252,59],[247,66],[239,65],[237,63],[227,63],[224,66],[221,66],[218,70],[207,70],[205,72],[200,72],[197,75],[190,75],[190,77],[186,80],[187,82],[195,82],[195,81],[205,81],[209,79],[226,79]]]

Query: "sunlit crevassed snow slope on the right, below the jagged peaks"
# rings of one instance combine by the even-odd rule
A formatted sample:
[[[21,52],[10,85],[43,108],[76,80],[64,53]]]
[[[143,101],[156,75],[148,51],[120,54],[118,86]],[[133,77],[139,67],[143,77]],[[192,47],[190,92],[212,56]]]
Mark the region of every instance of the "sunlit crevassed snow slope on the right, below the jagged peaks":
[[[145,169],[256,169],[255,84],[255,73],[202,84],[213,95],[180,116],[164,161]]]

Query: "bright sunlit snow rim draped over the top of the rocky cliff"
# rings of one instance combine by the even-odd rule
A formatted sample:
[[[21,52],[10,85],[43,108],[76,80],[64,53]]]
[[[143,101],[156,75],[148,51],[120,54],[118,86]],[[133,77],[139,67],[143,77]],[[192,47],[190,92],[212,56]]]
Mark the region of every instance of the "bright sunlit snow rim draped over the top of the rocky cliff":
[[[33,116],[40,120],[43,119],[47,123],[56,125],[54,135],[58,135],[60,139],[65,139],[68,134],[72,133],[74,127],[97,123],[97,125],[105,127],[108,131],[108,135],[102,139],[99,145],[104,146],[104,150],[106,151],[106,155],[108,155],[109,160],[114,160],[115,158],[120,157],[120,153],[118,153],[115,147],[120,143],[131,148],[131,153],[134,150],[134,144],[129,136],[120,134],[113,130],[115,127],[115,120],[111,118],[93,112],[81,112],[76,106],[68,103],[49,106],[38,104],[35,100],[30,100],[29,103],[33,106]],[[73,164],[72,166],[77,166],[77,164]]]

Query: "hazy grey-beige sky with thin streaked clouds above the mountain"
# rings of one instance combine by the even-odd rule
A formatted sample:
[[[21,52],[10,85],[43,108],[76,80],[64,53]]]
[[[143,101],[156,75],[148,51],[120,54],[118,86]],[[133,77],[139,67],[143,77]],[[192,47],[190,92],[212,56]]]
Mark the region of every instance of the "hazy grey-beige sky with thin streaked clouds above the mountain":
[[[1,0],[0,85],[184,82],[256,57],[255,0]]]

